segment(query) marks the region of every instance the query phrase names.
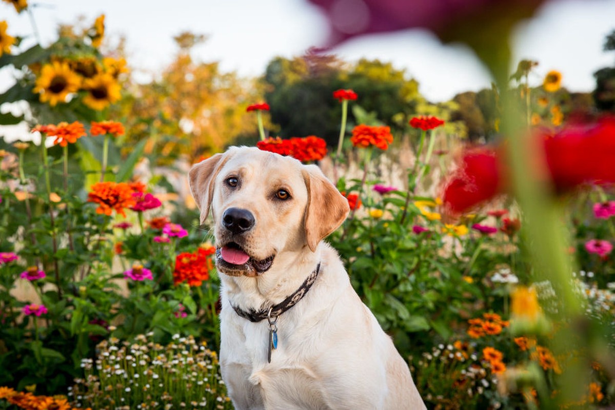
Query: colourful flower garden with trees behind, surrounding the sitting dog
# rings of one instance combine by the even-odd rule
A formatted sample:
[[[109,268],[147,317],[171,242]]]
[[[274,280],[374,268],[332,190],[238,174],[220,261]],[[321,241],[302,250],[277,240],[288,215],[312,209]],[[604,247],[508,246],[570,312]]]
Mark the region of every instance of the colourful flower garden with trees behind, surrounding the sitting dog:
[[[428,408],[615,406],[615,106],[582,111],[558,71],[530,84],[536,61],[485,60],[474,138],[466,100],[430,103],[380,61],[277,58],[245,84],[183,33],[144,85],[104,15],[48,47],[10,33],[0,105],[28,109],[0,124],[28,132],[0,125],[0,408],[232,408],[215,243],[186,181],[232,144],[317,164],[347,198],[327,240]]]

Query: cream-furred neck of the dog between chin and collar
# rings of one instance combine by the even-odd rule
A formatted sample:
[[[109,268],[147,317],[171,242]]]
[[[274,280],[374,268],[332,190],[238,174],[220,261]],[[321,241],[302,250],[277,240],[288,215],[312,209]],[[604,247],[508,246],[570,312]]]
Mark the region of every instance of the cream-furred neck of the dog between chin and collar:
[[[315,252],[305,246],[301,252],[277,254],[267,272],[258,277],[232,277],[220,274],[223,296],[242,310],[261,310],[279,304],[295,292],[319,263],[320,246]]]

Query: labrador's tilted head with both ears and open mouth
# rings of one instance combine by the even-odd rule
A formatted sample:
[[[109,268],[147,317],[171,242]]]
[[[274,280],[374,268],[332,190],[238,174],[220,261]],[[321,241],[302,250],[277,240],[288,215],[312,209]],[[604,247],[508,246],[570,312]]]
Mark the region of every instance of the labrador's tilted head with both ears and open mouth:
[[[190,190],[204,223],[212,210],[216,266],[231,276],[266,272],[282,252],[314,252],[349,212],[315,165],[233,147],[192,167]]]

